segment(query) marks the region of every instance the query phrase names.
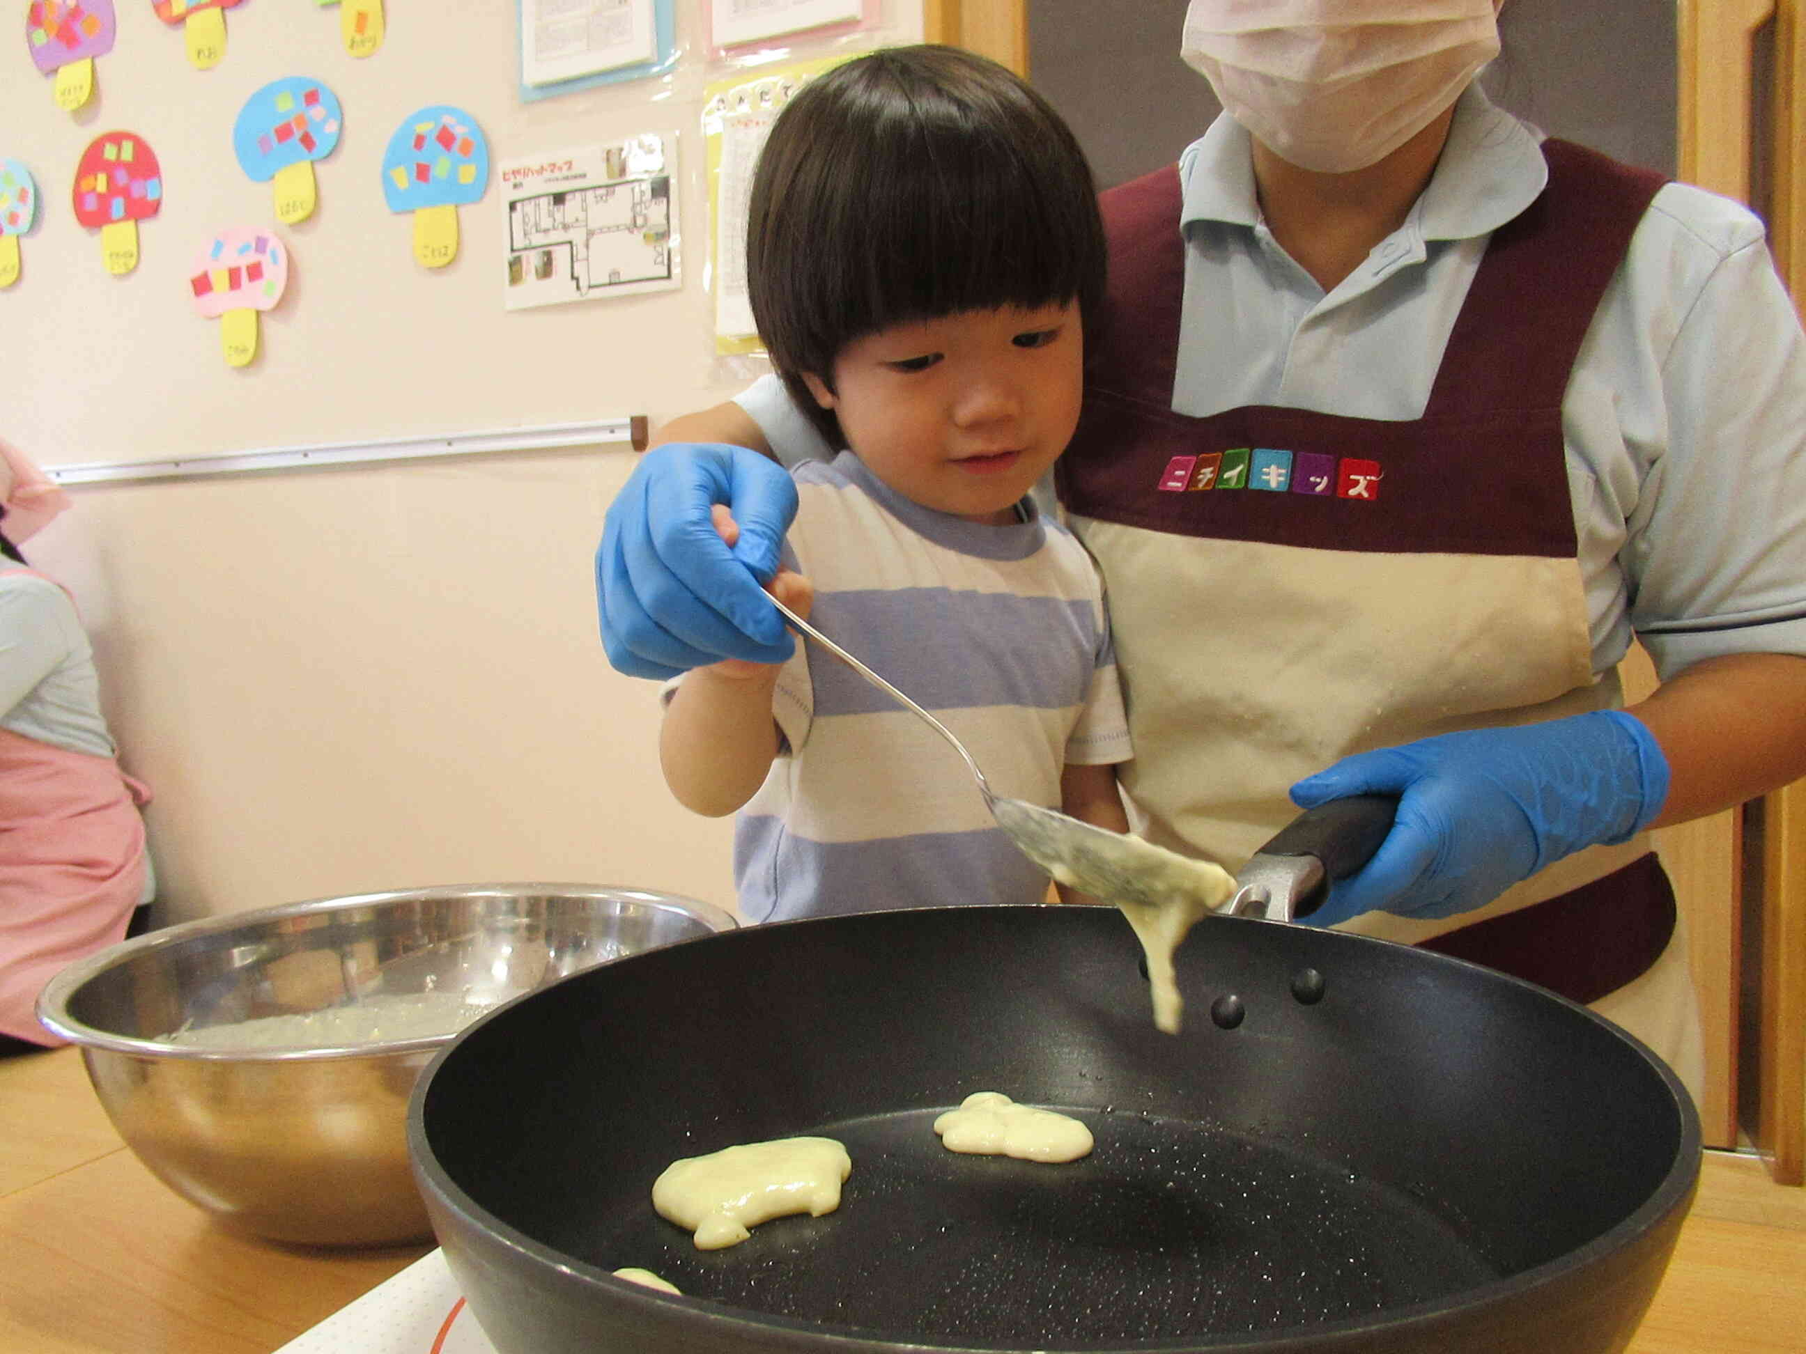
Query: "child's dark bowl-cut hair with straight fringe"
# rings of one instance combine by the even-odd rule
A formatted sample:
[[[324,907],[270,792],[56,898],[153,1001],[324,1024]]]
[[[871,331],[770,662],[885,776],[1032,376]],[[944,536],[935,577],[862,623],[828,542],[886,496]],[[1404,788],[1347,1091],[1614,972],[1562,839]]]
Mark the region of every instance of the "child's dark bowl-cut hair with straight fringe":
[[[887,47],[805,83],[753,175],[748,291],[791,399],[836,448],[804,372],[854,339],[1001,307],[1103,301],[1096,184],[1053,107],[957,47]]]

